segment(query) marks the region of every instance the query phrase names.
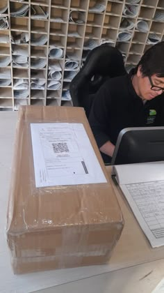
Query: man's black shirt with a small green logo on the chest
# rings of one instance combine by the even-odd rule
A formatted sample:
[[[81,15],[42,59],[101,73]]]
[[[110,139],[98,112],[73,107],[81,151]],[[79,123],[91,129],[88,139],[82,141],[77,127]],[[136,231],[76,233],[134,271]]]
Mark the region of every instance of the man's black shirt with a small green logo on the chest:
[[[130,75],[114,77],[96,93],[89,122],[98,147],[115,144],[126,127],[164,126],[164,95],[143,103]]]

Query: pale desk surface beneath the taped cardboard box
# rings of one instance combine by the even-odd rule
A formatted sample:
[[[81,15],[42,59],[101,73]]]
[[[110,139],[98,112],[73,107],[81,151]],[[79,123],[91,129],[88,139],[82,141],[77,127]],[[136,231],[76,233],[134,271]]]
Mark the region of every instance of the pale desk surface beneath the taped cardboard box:
[[[56,293],[74,293],[77,290],[79,293],[151,292],[163,278],[164,262],[161,259],[164,258],[164,248],[151,248],[126,200],[114,185],[117,200],[124,215],[125,226],[108,264],[30,273],[22,276],[13,275],[4,227],[16,118],[16,112],[0,112],[0,292],[27,293],[37,290],[41,290],[39,292],[42,293],[50,293],[54,290]],[[107,170],[110,177],[111,167],[107,167]],[[112,180],[111,183],[113,184]],[[54,286],[56,286],[55,289]]]

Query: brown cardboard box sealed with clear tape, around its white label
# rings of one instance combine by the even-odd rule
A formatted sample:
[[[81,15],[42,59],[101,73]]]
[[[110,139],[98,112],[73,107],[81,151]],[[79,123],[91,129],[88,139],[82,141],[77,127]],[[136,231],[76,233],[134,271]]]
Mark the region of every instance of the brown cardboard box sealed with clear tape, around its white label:
[[[35,187],[31,123],[83,123],[106,183]],[[104,264],[124,220],[83,108],[19,108],[7,215],[14,273]]]

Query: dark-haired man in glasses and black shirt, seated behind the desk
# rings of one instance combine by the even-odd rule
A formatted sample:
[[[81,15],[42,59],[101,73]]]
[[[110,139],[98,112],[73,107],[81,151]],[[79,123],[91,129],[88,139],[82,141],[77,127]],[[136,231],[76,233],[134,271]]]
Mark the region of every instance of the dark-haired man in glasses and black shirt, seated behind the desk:
[[[104,162],[113,156],[120,130],[164,126],[164,42],[151,47],[131,73],[105,82],[95,95],[89,122]]]

